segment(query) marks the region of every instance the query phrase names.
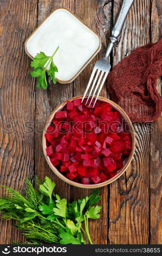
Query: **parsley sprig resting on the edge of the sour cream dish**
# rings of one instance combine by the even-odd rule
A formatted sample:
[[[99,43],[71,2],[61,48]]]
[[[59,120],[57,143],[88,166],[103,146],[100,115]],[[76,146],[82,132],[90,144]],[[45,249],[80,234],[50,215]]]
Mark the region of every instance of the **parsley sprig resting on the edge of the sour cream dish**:
[[[46,79],[46,69],[49,64],[50,66],[47,74],[53,83],[57,82],[55,73],[58,72],[58,68],[53,62],[53,56],[56,54],[58,49],[59,47],[57,47],[52,56],[47,56],[44,52],[40,52],[37,53],[37,55],[33,58],[33,61],[31,62],[31,67],[34,69],[30,73],[30,75],[33,77],[38,77],[38,88],[47,89],[48,84]]]

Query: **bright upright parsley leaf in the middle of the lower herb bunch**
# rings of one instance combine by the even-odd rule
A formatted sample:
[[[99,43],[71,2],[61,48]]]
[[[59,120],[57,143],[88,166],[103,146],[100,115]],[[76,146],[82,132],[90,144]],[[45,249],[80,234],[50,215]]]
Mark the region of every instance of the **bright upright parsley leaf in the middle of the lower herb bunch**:
[[[56,195],[56,198],[57,207],[53,208],[53,211],[55,212],[55,215],[66,218],[67,200],[65,198],[60,199],[58,195]]]

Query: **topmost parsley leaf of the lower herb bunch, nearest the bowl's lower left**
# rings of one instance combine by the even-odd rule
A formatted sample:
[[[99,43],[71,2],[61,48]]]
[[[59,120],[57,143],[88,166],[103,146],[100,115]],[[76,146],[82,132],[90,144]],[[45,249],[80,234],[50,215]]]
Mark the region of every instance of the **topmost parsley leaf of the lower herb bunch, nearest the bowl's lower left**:
[[[52,202],[51,197],[53,189],[55,187],[55,182],[52,182],[47,176],[45,177],[44,183],[39,186],[39,191],[50,198],[50,203]]]

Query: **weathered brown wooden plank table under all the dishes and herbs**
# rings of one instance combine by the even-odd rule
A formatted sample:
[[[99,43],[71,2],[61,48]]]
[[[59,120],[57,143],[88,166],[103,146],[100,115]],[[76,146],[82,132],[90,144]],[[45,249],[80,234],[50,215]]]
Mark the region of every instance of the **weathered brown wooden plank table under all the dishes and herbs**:
[[[90,194],[88,189],[70,186],[48,167],[42,151],[42,127],[48,115],[65,99],[81,95],[94,62],[107,47],[113,19],[121,0],[1,0],[1,184],[23,190],[25,177],[47,175],[57,192],[69,200]],[[102,39],[100,53],[70,84],[49,83],[46,91],[36,88],[31,59],[24,42],[55,8],[66,7],[84,20]],[[126,19],[112,66],[137,46],[156,42],[162,34],[160,0],[134,0]],[[158,80],[160,91],[160,80]],[[108,97],[106,84],[101,92]],[[91,222],[95,244],[160,244],[161,240],[161,118],[150,124],[134,123],[136,153],[126,173],[101,189],[102,214]],[[26,127],[28,125],[28,127]],[[150,127],[152,133],[146,133]],[[2,191],[3,192],[3,191]],[[23,242],[10,221],[0,222],[0,243]]]

